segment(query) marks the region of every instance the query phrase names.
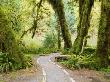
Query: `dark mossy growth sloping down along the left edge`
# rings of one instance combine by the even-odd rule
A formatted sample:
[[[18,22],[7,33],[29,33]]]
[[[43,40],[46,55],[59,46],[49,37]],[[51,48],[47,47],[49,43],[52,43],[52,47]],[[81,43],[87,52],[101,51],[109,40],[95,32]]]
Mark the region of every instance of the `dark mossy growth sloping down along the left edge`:
[[[0,8],[0,72],[23,68],[24,55],[7,14]],[[1,54],[3,53],[3,54]],[[4,59],[5,58],[5,59]]]

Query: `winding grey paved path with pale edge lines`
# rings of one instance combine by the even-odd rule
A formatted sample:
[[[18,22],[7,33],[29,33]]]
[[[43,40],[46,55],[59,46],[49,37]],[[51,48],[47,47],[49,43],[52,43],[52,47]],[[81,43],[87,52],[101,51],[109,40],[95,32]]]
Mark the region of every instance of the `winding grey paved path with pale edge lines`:
[[[51,58],[58,55],[58,53],[53,53],[50,56],[41,56],[38,58],[37,63],[42,67],[44,76],[43,82],[75,82],[65,69],[51,61]]]

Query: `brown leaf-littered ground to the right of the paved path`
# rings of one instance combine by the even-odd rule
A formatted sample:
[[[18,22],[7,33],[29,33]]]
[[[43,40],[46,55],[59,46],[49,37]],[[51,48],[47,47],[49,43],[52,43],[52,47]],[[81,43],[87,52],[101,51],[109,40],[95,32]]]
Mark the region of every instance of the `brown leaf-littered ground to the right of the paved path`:
[[[68,73],[71,77],[74,78],[76,82],[110,82],[110,77],[105,76],[105,73],[88,70],[88,69],[80,69],[80,70],[68,70]]]

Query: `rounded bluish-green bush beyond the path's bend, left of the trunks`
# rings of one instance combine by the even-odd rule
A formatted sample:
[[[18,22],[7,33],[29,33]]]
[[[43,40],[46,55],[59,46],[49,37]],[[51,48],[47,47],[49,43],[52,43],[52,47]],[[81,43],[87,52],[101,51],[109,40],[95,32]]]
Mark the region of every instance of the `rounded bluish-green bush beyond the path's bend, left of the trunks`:
[[[48,53],[56,52],[57,45],[58,45],[57,35],[52,33],[47,34],[43,42],[43,47],[37,49],[37,52],[39,54],[40,53],[48,54]]]

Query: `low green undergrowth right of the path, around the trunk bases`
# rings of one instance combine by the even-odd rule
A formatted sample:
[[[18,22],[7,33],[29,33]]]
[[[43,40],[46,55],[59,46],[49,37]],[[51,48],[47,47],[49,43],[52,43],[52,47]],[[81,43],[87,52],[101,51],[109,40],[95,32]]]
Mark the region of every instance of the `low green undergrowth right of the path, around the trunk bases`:
[[[73,54],[71,51],[63,51],[63,54],[71,55],[68,60],[60,61],[62,65],[69,69],[92,69],[110,72],[110,66],[108,68],[101,67],[98,58],[95,56],[95,49],[86,48],[80,55]]]

